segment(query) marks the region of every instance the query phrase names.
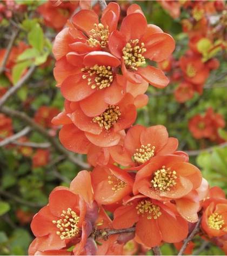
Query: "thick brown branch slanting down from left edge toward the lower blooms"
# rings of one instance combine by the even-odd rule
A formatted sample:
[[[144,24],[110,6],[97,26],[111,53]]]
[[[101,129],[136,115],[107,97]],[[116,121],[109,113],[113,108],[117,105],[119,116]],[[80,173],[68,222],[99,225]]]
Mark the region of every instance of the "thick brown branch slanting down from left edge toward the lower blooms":
[[[83,167],[85,169],[90,167],[89,164],[84,163],[83,161],[81,161],[81,159],[72,155],[72,153],[69,152],[68,150],[66,150],[58,142],[58,140],[55,137],[52,137],[51,135],[49,135],[48,131],[46,131],[41,125],[37,124],[33,119],[31,119],[25,113],[19,112],[17,110],[11,110],[11,108],[5,107],[5,106],[2,107],[1,112],[8,115],[8,116],[21,119],[26,124],[31,126],[35,131],[41,133],[44,137],[46,137],[49,140],[49,142],[56,149],[56,151],[58,151],[59,153],[64,155],[66,158],[68,158],[72,163],[78,164],[78,165],[80,165],[81,167]]]

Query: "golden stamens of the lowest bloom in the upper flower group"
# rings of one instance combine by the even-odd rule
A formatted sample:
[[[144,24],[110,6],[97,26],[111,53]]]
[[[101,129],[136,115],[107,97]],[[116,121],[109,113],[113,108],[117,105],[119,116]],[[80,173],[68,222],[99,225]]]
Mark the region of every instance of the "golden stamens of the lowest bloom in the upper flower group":
[[[113,124],[117,123],[117,120],[121,116],[121,111],[118,106],[109,105],[106,108],[105,112],[100,114],[97,117],[94,117],[92,121],[97,123],[100,127],[104,127],[106,130],[109,130]]]

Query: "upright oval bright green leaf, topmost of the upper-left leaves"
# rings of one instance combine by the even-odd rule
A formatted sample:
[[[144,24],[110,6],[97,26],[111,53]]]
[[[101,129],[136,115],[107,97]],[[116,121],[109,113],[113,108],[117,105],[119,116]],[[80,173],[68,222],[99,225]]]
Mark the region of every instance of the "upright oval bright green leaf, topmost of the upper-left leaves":
[[[28,34],[29,44],[36,48],[39,52],[43,50],[44,46],[44,35],[43,30],[38,23],[31,29]]]

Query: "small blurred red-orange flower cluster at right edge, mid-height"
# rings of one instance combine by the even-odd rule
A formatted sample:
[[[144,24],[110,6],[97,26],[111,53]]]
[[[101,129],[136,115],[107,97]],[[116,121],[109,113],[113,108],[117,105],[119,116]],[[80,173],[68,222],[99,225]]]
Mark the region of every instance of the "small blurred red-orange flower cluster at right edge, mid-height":
[[[218,134],[218,129],[225,126],[225,120],[221,114],[214,113],[212,107],[206,110],[204,115],[196,114],[189,120],[189,130],[196,139],[210,139],[222,143],[223,139]]]

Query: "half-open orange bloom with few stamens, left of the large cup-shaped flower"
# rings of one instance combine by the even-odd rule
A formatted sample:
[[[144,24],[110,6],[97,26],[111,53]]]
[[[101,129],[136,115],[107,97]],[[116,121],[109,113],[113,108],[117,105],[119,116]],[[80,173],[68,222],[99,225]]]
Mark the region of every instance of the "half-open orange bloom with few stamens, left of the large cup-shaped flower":
[[[97,166],[91,173],[95,200],[99,204],[113,204],[131,194],[133,178],[115,165]]]

